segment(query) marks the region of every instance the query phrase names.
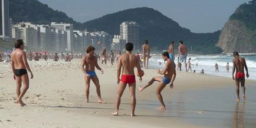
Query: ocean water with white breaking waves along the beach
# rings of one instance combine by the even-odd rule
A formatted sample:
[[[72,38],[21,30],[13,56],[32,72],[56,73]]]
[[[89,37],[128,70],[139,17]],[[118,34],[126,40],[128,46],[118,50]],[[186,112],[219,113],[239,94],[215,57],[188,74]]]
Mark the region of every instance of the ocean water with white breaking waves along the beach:
[[[248,72],[250,75],[248,79],[256,80],[256,55],[240,56],[244,57],[247,63]],[[234,59],[232,55],[188,55],[188,58],[191,58],[191,64],[193,64],[191,66],[192,71],[195,70],[196,73],[200,73],[201,70],[204,69],[205,74],[207,75],[232,78],[232,60]],[[159,65],[159,62],[162,64]],[[178,57],[175,57],[175,63],[178,64]],[[198,63],[198,66],[196,66],[196,63]],[[215,72],[215,63],[219,65],[219,72]],[[226,70],[227,63],[229,63],[229,73],[227,73]],[[162,60],[162,57],[160,55],[153,56],[149,60],[149,68],[163,68],[164,65],[164,61]],[[185,71],[185,66],[183,64],[182,71]]]

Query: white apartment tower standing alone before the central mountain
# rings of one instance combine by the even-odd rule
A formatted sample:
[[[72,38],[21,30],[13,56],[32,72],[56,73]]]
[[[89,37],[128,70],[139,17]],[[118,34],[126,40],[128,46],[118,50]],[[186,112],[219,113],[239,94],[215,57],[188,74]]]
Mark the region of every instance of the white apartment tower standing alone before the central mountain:
[[[126,43],[133,43],[133,50],[139,50],[139,25],[136,22],[122,22],[120,25],[120,36],[122,40],[126,40]]]

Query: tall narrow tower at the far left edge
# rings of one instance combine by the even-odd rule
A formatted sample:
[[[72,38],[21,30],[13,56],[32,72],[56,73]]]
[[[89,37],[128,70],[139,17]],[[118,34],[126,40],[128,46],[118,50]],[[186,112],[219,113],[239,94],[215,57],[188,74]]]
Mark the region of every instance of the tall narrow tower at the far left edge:
[[[0,37],[10,37],[9,0],[0,0]]]

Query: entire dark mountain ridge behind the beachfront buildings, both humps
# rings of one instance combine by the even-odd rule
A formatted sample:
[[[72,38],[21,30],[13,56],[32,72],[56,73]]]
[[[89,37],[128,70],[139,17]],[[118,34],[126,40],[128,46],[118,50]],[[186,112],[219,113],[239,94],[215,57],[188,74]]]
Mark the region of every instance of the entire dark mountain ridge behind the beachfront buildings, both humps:
[[[14,22],[32,22],[34,24],[50,24],[50,22],[66,22],[74,24],[75,29],[88,31],[106,31],[111,35],[119,35],[120,24],[123,21],[135,21],[139,24],[140,42],[149,40],[150,45],[158,50],[165,50],[170,41],[183,40],[187,47],[192,47],[193,53],[218,53],[221,48],[216,47],[220,31],[214,33],[197,34],[182,28],[172,19],[152,8],[134,8],[104,15],[81,24],[68,17],[64,12],[55,11],[37,0],[9,1],[9,14]]]

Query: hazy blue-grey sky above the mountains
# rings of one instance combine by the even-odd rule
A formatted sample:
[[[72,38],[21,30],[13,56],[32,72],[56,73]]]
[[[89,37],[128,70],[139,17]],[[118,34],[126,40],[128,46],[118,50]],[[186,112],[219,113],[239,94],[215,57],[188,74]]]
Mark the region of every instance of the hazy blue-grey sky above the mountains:
[[[192,32],[214,32],[224,27],[235,9],[251,0],[39,0],[78,22],[124,9],[147,6]]]

